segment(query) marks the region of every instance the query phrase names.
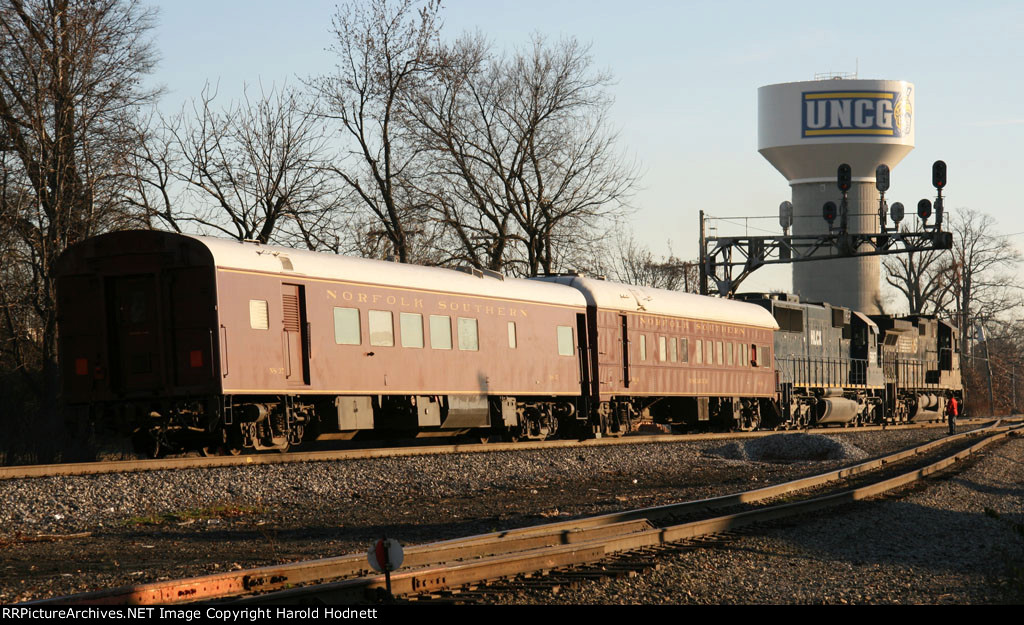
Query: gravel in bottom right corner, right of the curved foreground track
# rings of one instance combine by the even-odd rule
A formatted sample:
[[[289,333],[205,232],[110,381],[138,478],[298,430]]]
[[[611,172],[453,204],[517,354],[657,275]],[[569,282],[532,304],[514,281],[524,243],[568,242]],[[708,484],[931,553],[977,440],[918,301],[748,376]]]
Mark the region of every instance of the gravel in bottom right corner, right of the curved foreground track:
[[[1020,603],[1024,440],[899,498],[761,528],[636,578],[514,603]]]

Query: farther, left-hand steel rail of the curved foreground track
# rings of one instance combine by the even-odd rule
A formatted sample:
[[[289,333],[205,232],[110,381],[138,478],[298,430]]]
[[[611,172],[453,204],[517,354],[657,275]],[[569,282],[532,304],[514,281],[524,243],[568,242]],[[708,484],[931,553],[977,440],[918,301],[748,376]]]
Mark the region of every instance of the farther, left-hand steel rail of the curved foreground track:
[[[969,436],[1005,429],[1009,429],[1009,426],[999,428],[996,423],[985,428],[939,439],[854,466],[742,493],[416,545],[406,549],[403,564],[407,567],[427,567],[444,562],[454,555],[460,555],[464,558],[482,557],[505,552],[508,549],[538,548],[548,544],[577,544],[585,537],[593,536],[589,532],[600,528],[609,528],[608,531],[614,533],[621,531],[621,528],[632,527],[630,524],[648,524],[650,520],[664,519],[693,511],[762,501],[874,470],[886,464],[910,458]],[[501,545],[506,545],[508,549]],[[146,605],[199,601],[233,596],[256,589],[271,590],[290,585],[315,583],[368,573],[366,555],[353,553],[317,560],[218,573],[193,579],[98,590],[42,599],[37,603]]]

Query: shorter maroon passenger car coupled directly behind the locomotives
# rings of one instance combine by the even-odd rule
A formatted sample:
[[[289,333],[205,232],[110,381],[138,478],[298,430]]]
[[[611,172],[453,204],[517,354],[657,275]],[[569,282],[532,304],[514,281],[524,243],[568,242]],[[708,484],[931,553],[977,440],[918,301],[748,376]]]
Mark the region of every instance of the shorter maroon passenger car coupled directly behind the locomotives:
[[[587,297],[591,394],[606,430],[650,419],[754,429],[777,415],[778,324],[764,308],[592,278],[542,280]]]

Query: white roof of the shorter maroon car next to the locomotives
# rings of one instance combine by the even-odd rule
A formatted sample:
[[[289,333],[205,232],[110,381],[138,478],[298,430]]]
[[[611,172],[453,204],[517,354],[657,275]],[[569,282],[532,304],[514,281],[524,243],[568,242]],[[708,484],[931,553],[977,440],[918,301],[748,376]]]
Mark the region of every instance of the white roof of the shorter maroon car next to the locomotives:
[[[757,304],[734,299],[636,287],[582,276],[557,276],[537,280],[575,287],[587,296],[589,304],[599,308],[718,321],[769,330],[778,329],[778,324],[771,312]]]

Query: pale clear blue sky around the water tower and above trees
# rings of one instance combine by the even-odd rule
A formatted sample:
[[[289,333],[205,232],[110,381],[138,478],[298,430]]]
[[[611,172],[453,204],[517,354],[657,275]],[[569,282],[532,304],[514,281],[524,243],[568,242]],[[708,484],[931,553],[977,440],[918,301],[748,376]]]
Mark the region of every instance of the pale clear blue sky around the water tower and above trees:
[[[333,66],[336,2],[155,4],[153,79],[168,89],[166,110],[207,80],[232,98],[243,83],[297,83]],[[446,38],[479,31],[512,47],[540,33],[593,46],[594,66],[615,77],[621,148],[644,171],[632,225],[655,252],[671,240],[677,255],[695,257],[700,209],[764,215],[755,223],[778,232],[790,189],[757,152],[757,89],[855,71],[914,84],[916,145],[893,169],[890,203],[932,198],[931,164],[942,159],[947,210],[989,213],[1024,244],[1014,200],[1024,178],[1024,2],[445,0],[443,19]],[[787,272],[762,269],[744,289],[790,286]]]

